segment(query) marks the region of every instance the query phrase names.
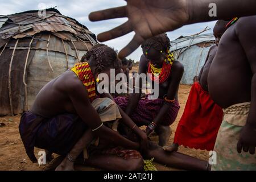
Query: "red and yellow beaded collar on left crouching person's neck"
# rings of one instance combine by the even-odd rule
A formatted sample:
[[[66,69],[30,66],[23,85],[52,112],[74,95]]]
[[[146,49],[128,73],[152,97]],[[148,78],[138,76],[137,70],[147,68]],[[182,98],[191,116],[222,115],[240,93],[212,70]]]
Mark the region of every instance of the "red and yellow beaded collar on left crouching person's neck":
[[[87,62],[75,64],[75,66],[71,69],[74,73],[76,73],[79,80],[84,84],[90,102],[92,102],[96,98],[96,89],[95,89],[95,81],[90,69],[90,66]]]

